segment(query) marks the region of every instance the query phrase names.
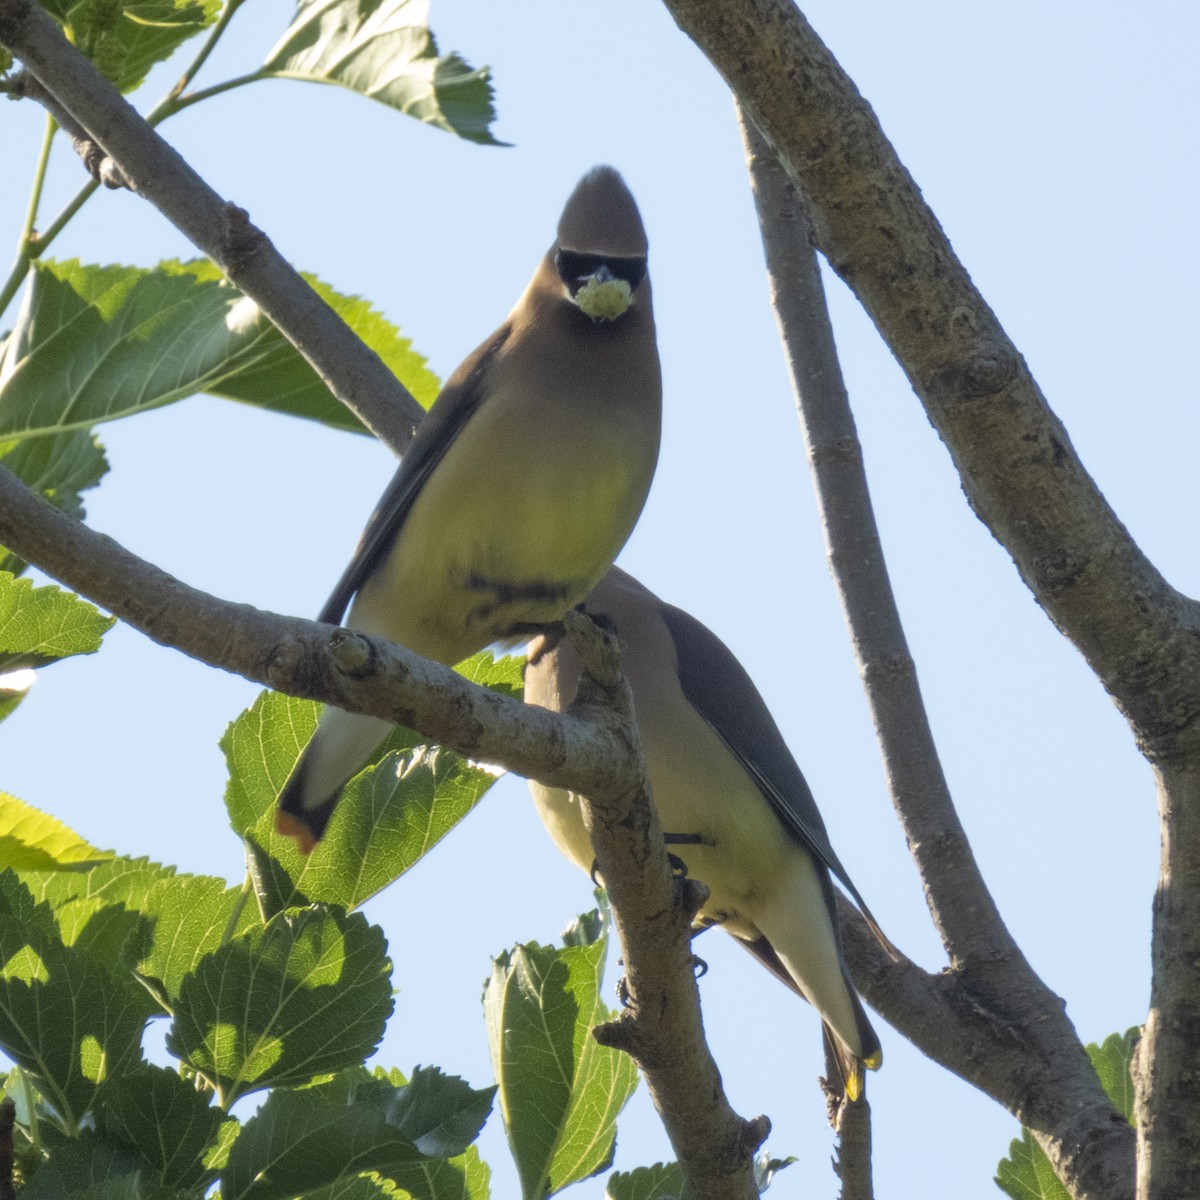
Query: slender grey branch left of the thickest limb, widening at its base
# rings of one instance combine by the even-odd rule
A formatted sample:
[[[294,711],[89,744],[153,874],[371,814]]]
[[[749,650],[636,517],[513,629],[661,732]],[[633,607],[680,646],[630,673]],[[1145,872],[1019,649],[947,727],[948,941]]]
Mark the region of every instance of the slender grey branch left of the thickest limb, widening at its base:
[[[926,977],[924,997],[932,1000],[936,991],[936,1002],[916,1013],[900,1012],[895,1024],[925,1054],[1034,1129],[1074,1195],[1126,1195],[1133,1174],[1133,1132],[1109,1103],[1061,1001],[1006,929],[954,810],[888,581],[804,204],[752,121],[744,113],[742,118],[772,299],[809,446],[830,569],[883,748],[893,802],[953,964],[936,980]],[[911,962],[896,964],[895,970],[906,972],[908,983],[918,971]],[[876,1002],[871,988],[864,986],[864,994]],[[878,1007],[889,1019],[898,1015],[898,1006],[884,1001]],[[1111,1130],[1111,1138],[1097,1145],[1092,1128],[1080,1128],[1080,1112]]]

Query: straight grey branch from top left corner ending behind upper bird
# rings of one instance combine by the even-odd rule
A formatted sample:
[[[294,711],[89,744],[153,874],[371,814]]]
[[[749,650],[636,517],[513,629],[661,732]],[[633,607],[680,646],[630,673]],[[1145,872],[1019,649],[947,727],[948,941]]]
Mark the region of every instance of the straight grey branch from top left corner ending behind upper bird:
[[[137,114],[32,0],[0,0],[0,42],[150,200],[248,295],[305,356],[329,390],[397,454],[421,406],[379,356],[250,223]]]

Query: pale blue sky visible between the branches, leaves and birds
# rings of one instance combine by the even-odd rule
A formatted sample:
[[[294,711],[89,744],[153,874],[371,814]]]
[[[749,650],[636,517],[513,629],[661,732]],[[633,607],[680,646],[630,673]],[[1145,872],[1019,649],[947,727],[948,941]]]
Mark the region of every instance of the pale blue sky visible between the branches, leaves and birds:
[[[1026,355],[1084,462],[1166,577],[1200,589],[1194,234],[1200,11],[1159,4],[835,4],[805,13],[839,55]],[[251,0],[202,83],[260,61],[290,14]],[[163,132],[301,268],[368,296],[446,374],[509,311],[595,162],[650,235],[664,450],[620,562],[710,625],[770,703],[830,836],[890,937],[943,965],[888,802],[806,478],[727,90],[665,8],[612,0],[434,2],[444,50],[494,70],[487,149],[328,88],[269,83]],[[161,71],[143,107],[178,72]],[[0,240],[16,240],[41,137],[0,109]],[[60,148],[61,150],[61,148]],[[47,211],[78,186],[61,154]],[[4,230],[8,230],[5,233]],[[97,196],[60,257],[149,265],[191,250],[143,202]],[[967,509],[870,322],[830,304],[893,582],[950,786],[1001,911],[1086,1040],[1148,997],[1157,818],[1150,770],[1079,654]],[[7,319],[2,319],[7,324]],[[196,398],[101,431],[94,526],[188,582],[317,611],[391,472],[366,439]],[[0,727],[0,787],[98,845],[240,880],[217,738],[254,689],[116,629],[44,672]],[[517,780],[368,907],[396,962],[380,1060],[487,1082],[480,985],[515,941],[589,906]],[[800,1162],[772,1195],[833,1195],[814,1013],[728,940],[704,940],[709,1038],[733,1104]],[[880,1193],[998,1195],[1016,1126],[878,1021]],[[512,1194],[496,1122],[481,1148]],[[668,1156],[644,1093],[618,1165]],[[581,1186],[581,1198],[602,1194]]]

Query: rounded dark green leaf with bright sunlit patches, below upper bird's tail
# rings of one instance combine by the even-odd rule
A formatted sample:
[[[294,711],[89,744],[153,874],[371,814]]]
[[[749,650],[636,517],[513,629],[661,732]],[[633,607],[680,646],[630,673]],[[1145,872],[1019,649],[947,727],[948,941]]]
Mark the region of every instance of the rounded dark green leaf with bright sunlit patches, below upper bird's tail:
[[[288,910],[203,958],[179,989],[167,1048],[222,1105],[361,1062],[391,1015],[383,932],[361,916]]]

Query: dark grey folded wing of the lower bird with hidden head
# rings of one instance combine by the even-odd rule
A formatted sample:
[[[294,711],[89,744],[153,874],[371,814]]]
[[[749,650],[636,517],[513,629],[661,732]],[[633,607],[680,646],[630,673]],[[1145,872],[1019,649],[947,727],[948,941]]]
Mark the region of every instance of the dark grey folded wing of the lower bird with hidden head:
[[[742,763],[784,824],[838,876],[875,936],[890,947],[830,845],[808,781],[745,667],[712,630],[682,608],[664,604],[662,620],[674,643],[679,684],[688,701]]]

